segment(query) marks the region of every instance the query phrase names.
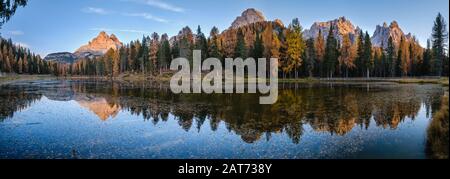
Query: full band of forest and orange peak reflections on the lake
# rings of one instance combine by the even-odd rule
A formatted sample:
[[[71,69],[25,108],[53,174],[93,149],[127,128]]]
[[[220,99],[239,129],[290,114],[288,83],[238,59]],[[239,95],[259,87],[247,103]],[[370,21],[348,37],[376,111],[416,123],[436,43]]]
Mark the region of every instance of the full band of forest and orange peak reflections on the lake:
[[[181,129],[200,131],[221,122],[247,143],[273,133],[285,133],[299,143],[305,125],[314,131],[345,135],[355,127],[395,130],[415,120],[421,108],[427,116],[440,107],[442,88],[435,85],[286,84],[278,102],[259,105],[258,94],[175,95],[162,84],[122,84],[95,81],[41,81],[0,87],[0,121],[12,118],[45,96],[76,101],[100,120],[114,120],[121,111],[158,124],[173,116]],[[371,121],[374,121],[374,123]]]

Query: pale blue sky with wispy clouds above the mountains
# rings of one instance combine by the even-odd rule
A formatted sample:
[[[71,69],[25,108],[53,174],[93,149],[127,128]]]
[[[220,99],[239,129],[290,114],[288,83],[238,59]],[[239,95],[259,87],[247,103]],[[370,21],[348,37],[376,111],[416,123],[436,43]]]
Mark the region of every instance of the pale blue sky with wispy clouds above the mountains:
[[[100,31],[114,33],[124,43],[152,32],[176,35],[185,26],[195,32],[200,25],[209,34],[213,26],[227,29],[247,8],[285,24],[299,18],[304,28],[345,16],[369,34],[376,25],[396,20],[422,46],[436,15],[442,13],[447,29],[449,19],[448,0],[29,0],[0,34],[45,56],[74,52]]]

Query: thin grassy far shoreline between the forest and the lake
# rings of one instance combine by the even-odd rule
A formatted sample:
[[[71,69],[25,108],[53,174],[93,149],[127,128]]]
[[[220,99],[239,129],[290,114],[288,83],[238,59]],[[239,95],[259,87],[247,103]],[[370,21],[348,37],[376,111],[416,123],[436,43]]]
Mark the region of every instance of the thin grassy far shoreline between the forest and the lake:
[[[159,76],[149,76],[142,74],[123,74],[119,77],[96,77],[96,76],[67,76],[67,77],[56,77],[52,75],[6,75],[0,76],[0,85],[6,83],[12,83],[16,81],[29,81],[29,80],[48,80],[48,79],[74,79],[74,80],[112,80],[118,82],[169,82],[170,74],[163,74]],[[244,81],[247,82],[248,79]],[[419,77],[419,78],[297,78],[297,79],[278,79],[279,83],[319,83],[319,82],[394,82],[399,84],[441,84],[444,86],[449,85],[448,77],[441,78],[430,78],[430,77]]]

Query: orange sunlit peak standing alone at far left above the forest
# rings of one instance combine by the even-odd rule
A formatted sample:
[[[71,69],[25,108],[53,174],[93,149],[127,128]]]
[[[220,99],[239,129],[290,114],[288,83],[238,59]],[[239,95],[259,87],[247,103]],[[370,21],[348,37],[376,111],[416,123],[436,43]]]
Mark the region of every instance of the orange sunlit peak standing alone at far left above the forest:
[[[74,54],[78,58],[103,56],[109,49],[117,50],[122,46],[122,42],[114,34],[109,36],[106,32],[100,32],[89,44],[81,46]]]

